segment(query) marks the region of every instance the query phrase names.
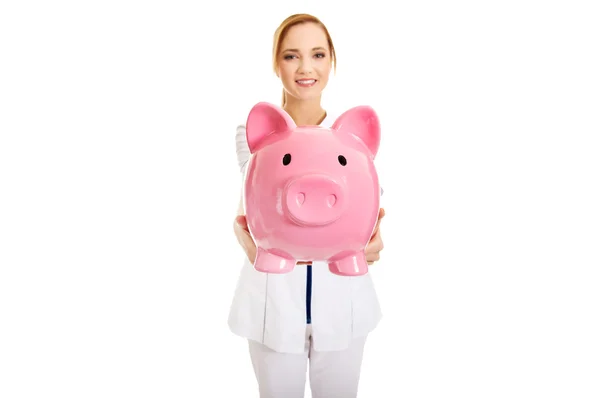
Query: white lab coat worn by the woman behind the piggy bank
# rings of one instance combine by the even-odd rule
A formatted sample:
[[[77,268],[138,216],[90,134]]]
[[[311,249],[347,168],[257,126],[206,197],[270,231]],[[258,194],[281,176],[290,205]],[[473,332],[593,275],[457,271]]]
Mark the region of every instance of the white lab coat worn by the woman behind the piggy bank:
[[[321,125],[331,126],[326,117]],[[245,128],[236,134],[242,175],[250,153]],[[245,259],[229,313],[230,330],[241,337],[288,353],[302,353],[306,338],[307,267],[297,265],[286,274],[256,271]],[[339,276],[325,262],[312,266],[311,325],[314,349],[335,351],[364,336],[379,323],[382,314],[369,273]]]

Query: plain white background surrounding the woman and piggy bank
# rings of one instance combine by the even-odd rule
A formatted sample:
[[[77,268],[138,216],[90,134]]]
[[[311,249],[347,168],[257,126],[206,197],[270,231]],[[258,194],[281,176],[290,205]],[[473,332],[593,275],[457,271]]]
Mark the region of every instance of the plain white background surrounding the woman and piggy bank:
[[[234,134],[309,12],[328,109],[383,126],[360,396],[597,398],[592,3],[3,2],[0,397],[258,397],[226,324]]]

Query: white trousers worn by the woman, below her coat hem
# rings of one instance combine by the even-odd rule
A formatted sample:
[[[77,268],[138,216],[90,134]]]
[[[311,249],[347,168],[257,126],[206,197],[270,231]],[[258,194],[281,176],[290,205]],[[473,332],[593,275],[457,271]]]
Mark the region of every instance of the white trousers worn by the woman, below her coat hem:
[[[307,365],[312,398],[356,398],[366,336],[343,351],[315,351],[311,326],[303,354],[273,351],[249,340],[260,398],[304,398]]]

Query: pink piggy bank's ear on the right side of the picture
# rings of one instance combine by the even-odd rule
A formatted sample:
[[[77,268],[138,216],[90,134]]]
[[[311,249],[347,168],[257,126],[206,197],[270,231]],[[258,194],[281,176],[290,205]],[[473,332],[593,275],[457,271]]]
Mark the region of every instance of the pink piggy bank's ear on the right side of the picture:
[[[332,128],[340,133],[350,134],[360,139],[375,157],[381,141],[381,127],[377,114],[370,106],[356,106],[342,113]]]

